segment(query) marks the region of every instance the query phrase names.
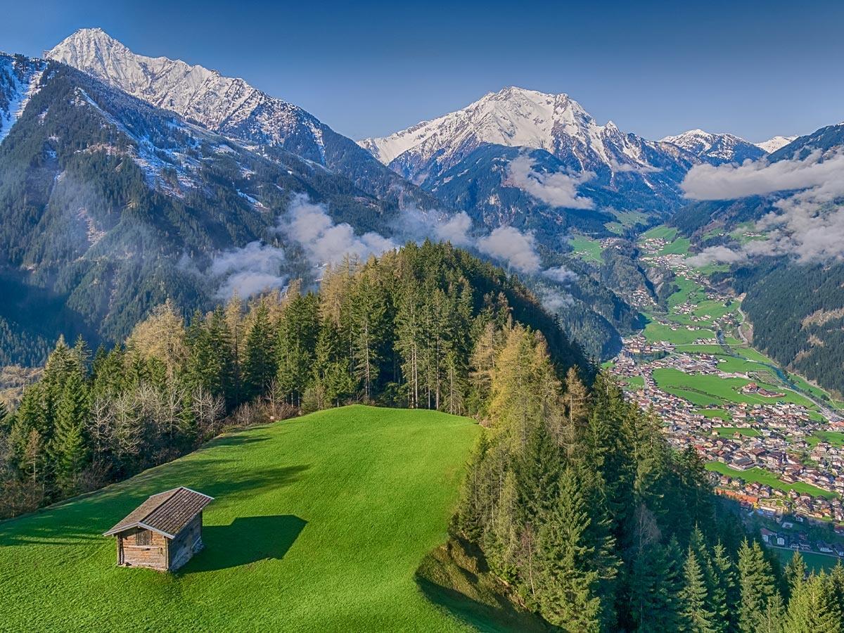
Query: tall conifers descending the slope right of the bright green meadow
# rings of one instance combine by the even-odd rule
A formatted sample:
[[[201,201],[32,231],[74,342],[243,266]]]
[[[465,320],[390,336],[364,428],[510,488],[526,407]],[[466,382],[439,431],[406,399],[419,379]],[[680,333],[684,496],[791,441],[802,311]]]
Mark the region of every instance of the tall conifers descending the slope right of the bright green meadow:
[[[561,376],[519,324],[487,326],[472,372],[486,429],[452,538],[512,602],[555,630],[844,630],[844,567],[782,570],[610,376]]]

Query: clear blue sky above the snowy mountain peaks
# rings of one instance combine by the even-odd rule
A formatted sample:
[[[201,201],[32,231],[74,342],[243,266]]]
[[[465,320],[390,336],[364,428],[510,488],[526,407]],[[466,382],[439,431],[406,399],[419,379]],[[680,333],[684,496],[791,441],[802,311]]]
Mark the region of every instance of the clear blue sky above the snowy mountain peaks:
[[[352,138],[519,85],[622,130],[752,141],[844,120],[844,3],[133,3],[0,7],[30,56],[99,26],[136,52],[246,78]],[[737,6],[738,5],[738,6]]]

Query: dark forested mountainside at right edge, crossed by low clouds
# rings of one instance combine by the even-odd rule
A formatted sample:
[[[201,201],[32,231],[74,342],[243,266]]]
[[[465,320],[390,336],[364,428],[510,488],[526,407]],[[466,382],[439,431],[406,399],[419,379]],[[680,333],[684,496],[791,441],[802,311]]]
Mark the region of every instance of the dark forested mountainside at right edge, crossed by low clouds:
[[[844,152],[844,124],[822,127],[793,139],[765,158],[760,169],[796,169],[809,156],[821,165]],[[793,165],[789,165],[792,163]],[[810,161],[811,162],[811,161]],[[785,165],[786,169],[778,167]],[[833,165],[829,162],[827,165]],[[798,371],[822,387],[844,393],[844,265],[835,257],[840,238],[844,200],[839,173],[830,171],[820,189],[828,193],[820,203],[812,201],[807,181],[802,192],[774,191],[732,200],[690,203],[670,222],[690,237],[695,251],[738,253],[731,257],[728,272],[717,279],[746,294],[742,306],[753,324],[753,342],[781,365]],[[803,202],[801,202],[803,201]],[[808,202],[807,202],[808,201]],[[793,214],[793,215],[789,215]],[[777,225],[791,217],[790,225]],[[760,221],[761,220],[761,221]],[[796,235],[797,241],[789,241]],[[779,249],[766,249],[771,237],[784,240]],[[802,252],[802,246],[827,244],[826,251]],[[790,246],[789,246],[790,245]],[[756,246],[745,252],[749,246]],[[827,257],[827,254],[831,255]]]

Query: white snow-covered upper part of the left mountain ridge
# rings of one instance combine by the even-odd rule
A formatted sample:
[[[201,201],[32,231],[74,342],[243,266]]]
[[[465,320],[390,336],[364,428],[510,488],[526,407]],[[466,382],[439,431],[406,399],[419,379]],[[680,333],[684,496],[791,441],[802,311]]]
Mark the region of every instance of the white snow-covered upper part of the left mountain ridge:
[[[324,160],[322,123],[298,106],[271,97],[241,78],[167,57],[130,51],[100,29],[81,29],[46,57],[67,63],[154,106],[176,112],[214,132],[248,135],[255,143],[283,145],[291,137],[303,154]]]

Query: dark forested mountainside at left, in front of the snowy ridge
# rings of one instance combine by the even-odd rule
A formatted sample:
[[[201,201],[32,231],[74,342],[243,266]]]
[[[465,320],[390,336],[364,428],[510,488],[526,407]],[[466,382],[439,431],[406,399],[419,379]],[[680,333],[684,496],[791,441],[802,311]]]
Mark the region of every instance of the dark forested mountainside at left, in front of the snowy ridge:
[[[38,74],[0,143],[0,282],[11,296],[62,306],[32,320],[33,301],[0,302],[0,333],[51,345],[59,332],[95,330],[116,341],[167,297],[207,306],[220,287],[208,274],[215,258],[258,240],[283,246],[277,222],[297,196],[360,231],[396,213],[311,161],[283,150],[268,160],[63,64],[3,54],[0,64]],[[0,84],[0,102],[14,103],[22,85]],[[277,285],[282,263],[307,276],[295,249],[242,254],[262,258]],[[20,350],[10,360],[24,358],[34,360]]]

